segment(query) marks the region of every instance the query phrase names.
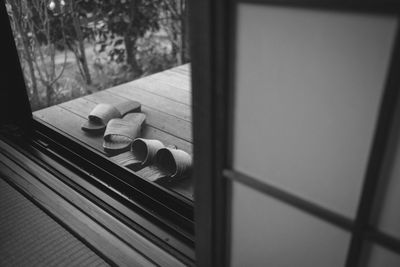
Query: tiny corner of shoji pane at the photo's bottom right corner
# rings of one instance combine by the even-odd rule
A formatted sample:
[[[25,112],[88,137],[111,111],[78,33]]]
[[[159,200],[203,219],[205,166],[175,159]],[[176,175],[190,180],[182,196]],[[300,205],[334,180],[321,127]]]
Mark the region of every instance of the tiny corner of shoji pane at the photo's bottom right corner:
[[[380,246],[372,246],[367,256],[367,267],[399,267],[400,255]]]

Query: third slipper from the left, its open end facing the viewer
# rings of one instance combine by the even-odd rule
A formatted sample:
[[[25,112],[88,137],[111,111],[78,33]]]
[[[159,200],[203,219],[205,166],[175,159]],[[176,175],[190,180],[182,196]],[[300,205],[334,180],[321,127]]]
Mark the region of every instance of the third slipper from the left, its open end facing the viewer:
[[[155,139],[136,138],[131,144],[131,150],[111,158],[118,165],[136,169],[153,162],[157,151],[164,148],[161,141]]]

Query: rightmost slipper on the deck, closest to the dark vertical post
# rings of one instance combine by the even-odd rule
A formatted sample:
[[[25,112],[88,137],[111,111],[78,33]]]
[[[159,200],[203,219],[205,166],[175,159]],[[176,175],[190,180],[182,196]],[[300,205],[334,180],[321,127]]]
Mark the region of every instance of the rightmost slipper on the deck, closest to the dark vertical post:
[[[139,171],[137,175],[152,182],[171,182],[187,178],[192,172],[192,157],[183,150],[161,148],[152,165]]]

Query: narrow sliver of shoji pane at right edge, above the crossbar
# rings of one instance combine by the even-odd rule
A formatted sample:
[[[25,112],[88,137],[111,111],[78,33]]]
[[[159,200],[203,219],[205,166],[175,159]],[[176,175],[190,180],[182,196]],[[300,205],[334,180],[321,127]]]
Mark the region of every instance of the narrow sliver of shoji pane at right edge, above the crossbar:
[[[375,220],[383,232],[400,239],[400,107],[394,122]]]

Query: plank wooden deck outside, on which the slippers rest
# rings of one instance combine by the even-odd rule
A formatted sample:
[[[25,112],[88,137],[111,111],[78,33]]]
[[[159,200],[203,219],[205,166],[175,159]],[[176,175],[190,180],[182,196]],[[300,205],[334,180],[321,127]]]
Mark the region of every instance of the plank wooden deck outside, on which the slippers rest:
[[[126,99],[142,104],[142,112],[146,114],[143,138],[158,139],[192,154],[189,64],[48,107],[33,115],[107,157],[102,148],[103,136],[89,135],[81,130],[81,125],[96,104],[118,104]],[[191,178],[166,187],[193,200]]]

